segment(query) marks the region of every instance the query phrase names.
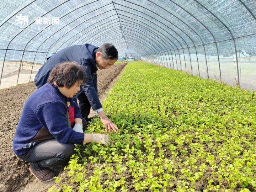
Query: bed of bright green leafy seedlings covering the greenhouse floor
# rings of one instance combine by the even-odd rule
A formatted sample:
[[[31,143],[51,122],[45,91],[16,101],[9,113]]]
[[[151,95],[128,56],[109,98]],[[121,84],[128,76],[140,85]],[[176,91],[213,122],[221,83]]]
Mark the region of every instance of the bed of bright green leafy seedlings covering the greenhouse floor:
[[[66,167],[70,186],[58,178],[60,190],[200,191],[197,182],[205,183],[205,192],[256,190],[256,99],[250,90],[129,62],[103,106],[120,130],[107,147],[76,146]],[[103,132],[99,118],[87,130]]]

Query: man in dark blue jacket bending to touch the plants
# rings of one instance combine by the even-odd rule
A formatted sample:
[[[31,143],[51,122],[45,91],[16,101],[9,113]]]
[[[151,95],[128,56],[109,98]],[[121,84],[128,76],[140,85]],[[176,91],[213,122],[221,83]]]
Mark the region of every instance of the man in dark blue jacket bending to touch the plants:
[[[34,81],[37,88],[46,84],[50,71],[58,63],[63,61],[75,61],[82,64],[86,78],[81,85],[80,91],[73,99],[76,102],[76,98],[78,98],[82,117],[85,118],[87,122],[90,121],[88,115],[92,107],[95,113],[100,116],[103,125],[106,127],[106,131],[108,130],[111,133],[111,129],[113,129],[113,131],[116,132],[118,128],[106,117],[98,98],[97,68],[108,69],[117,59],[117,49],[110,43],[104,43],[100,47],[95,47],[91,44],[70,46],[47,58],[47,62],[39,69]]]

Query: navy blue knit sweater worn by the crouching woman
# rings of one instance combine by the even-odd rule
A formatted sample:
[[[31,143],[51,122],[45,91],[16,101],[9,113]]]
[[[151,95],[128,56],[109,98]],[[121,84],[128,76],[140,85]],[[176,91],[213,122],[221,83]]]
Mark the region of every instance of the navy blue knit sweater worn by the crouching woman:
[[[84,133],[70,128],[75,118],[82,115],[72,98],[53,84],[43,85],[24,104],[12,142],[14,153],[25,154],[37,143],[54,138],[60,143],[82,144]]]

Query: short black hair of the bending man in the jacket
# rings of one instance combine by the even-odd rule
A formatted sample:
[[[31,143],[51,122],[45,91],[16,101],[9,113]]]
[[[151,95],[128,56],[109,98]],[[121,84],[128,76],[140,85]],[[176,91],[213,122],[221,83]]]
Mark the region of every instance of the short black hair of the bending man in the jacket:
[[[112,43],[104,43],[102,44],[97,52],[101,52],[102,59],[118,59],[118,51],[117,49],[112,45]]]

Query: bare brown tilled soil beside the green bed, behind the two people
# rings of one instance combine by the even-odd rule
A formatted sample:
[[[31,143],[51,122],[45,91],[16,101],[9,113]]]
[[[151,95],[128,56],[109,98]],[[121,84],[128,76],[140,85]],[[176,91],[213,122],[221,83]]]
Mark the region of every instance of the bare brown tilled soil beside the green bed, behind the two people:
[[[107,90],[113,86],[126,64],[114,64],[108,70],[97,71],[98,95],[106,97]],[[0,191],[47,191],[54,181],[38,181],[29,171],[29,163],[17,158],[12,151],[12,139],[19,121],[23,105],[36,90],[34,82],[0,90]],[[93,113],[91,113],[93,115]],[[57,170],[62,170],[61,167]],[[65,176],[67,172],[62,174]]]

